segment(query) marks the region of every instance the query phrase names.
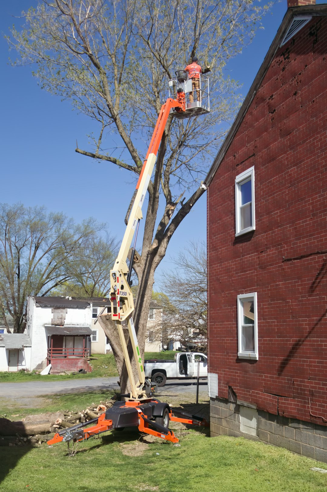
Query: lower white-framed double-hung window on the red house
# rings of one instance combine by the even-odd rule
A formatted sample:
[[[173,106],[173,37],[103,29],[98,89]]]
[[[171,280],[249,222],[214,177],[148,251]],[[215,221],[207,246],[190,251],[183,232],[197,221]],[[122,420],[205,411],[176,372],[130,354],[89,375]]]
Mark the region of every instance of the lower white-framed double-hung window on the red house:
[[[258,360],[257,292],[237,296],[238,357]]]

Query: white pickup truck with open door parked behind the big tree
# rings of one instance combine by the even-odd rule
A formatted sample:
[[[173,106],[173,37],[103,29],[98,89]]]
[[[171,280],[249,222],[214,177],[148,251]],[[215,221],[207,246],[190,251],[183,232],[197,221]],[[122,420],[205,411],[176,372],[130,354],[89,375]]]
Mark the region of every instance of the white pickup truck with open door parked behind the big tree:
[[[145,377],[151,378],[158,386],[164,386],[167,379],[185,379],[208,376],[207,356],[197,352],[177,352],[174,360],[151,359],[144,361]]]

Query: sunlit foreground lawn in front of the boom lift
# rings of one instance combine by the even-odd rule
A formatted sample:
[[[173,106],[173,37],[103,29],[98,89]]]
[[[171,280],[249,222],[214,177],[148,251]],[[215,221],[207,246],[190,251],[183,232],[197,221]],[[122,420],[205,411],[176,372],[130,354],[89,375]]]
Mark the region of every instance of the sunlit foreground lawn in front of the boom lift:
[[[176,431],[179,436],[181,431]],[[325,492],[326,464],[244,438],[183,431],[180,446],[137,430],[80,443],[0,447],[2,492]]]

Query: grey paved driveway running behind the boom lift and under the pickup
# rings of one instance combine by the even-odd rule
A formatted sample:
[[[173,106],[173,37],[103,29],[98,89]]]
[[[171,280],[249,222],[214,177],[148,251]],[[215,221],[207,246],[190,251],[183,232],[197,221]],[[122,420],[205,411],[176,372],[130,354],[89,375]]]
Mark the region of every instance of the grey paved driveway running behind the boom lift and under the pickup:
[[[46,378],[46,376],[44,376]],[[0,397],[37,397],[61,393],[92,392],[97,390],[118,390],[117,377],[95,377],[92,379],[68,379],[64,381],[29,381],[25,383],[0,383]],[[181,381],[171,379],[159,388],[158,395],[181,395],[194,393],[196,395],[196,380]],[[207,382],[200,381],[199,396],[208,396]]]

